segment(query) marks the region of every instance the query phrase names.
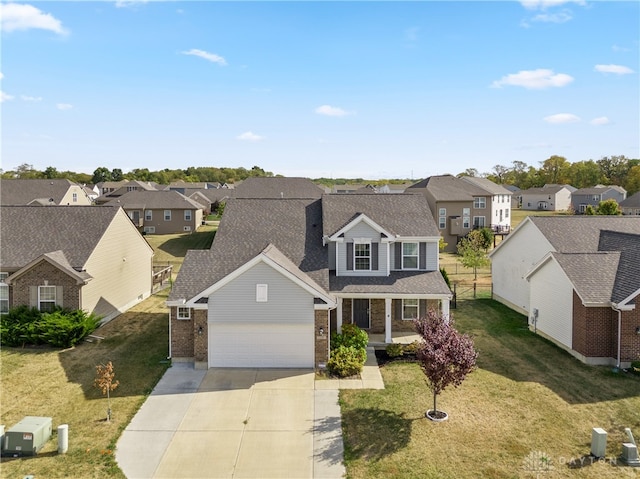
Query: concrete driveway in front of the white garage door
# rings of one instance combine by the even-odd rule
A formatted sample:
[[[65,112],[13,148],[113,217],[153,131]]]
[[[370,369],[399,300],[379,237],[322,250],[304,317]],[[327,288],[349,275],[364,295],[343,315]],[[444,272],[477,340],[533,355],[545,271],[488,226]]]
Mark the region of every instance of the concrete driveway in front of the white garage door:
[[[174,364],[116,446],[129,479],[340,478],[337,390],[311,370]]]

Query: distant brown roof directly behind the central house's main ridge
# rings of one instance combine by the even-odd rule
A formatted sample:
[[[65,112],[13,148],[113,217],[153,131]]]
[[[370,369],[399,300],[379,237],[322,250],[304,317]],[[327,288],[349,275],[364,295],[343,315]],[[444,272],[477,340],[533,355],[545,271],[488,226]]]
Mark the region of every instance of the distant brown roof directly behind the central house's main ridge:
[[[324,190],[308,178],[250,177],[235,188],[236,198],[320,198]]]

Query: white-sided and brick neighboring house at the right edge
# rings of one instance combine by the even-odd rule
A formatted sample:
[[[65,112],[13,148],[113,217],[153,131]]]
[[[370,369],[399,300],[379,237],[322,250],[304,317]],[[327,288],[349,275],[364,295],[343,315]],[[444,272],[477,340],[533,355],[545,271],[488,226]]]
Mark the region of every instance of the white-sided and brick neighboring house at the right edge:
[[[591,364],[640,354],[640,218],[529,216],[489,256],[494,299],[536,333]]]

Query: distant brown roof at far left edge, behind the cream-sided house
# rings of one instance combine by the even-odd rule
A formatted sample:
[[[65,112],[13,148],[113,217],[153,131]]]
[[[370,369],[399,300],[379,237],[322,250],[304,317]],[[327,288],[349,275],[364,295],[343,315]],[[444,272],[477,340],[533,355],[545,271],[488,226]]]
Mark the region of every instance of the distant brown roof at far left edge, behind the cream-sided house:
[[[60,204],[71,186],[79,186],[66,179],[52,180],[1,180],[0,204],[27,205],[34,200],[42,200],[46,204],[53,199],[54,204]]]

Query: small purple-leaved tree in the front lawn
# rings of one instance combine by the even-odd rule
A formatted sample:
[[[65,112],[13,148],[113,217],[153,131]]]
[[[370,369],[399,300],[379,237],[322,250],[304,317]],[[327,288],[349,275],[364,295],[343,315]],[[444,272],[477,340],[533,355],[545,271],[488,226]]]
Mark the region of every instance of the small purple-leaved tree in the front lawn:
[[[458,387],[475,369],[478,353],[473,340],[453,326],[453,319],[429,310],[427,315],[414,320],[414,328],[422,339],[417,359],[433,393],[433,409],[427,411],[430,419],[441,419],[446,414],[438,411],[438,394],[449,385]]]

